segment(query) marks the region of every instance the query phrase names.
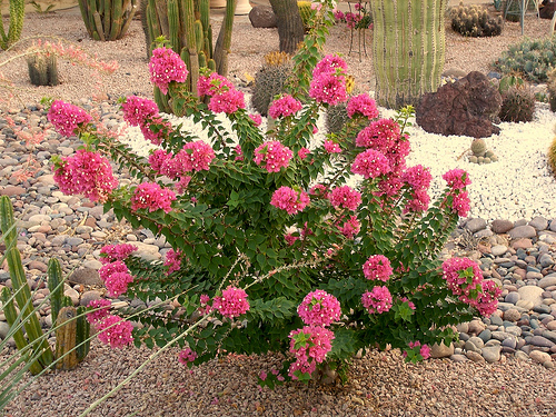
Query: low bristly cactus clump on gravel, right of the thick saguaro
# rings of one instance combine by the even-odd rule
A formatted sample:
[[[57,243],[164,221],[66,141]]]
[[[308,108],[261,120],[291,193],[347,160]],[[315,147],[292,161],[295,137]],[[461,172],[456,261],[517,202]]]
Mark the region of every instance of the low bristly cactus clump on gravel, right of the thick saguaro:
[[[464,6],[450,9],[451,29],[464,37],[495,37],[502,33],[502,17],[494,19],[479,6]]]

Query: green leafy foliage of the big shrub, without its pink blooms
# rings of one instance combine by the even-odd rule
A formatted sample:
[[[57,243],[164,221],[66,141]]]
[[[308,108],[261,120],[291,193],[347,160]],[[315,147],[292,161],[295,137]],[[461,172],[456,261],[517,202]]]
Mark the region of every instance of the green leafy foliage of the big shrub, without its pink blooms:
[[[311,60],[320,53],[317,46],[321,46],[324,31],[308,39],[308,47],[294,58],[299,69],[296,75],[311,73]],[[305,81],[308,87],[310,79]],[[296,91],[290,83],[287,87]],[[179,86],[171,83],[169,89],[171,92]],[[138,257],[125,260],[135,276],[126,295],[146,302],[161,300],[148,310],[137,311],[142,326],[133,330],[136,346],[187,346],[197,354],[193,365],[221,353],[279,351],[286,356],[281,373],[287,374],[296,360],[289,353],[291,345],[316,346],[311,330],[302,328],[298,308],[307,294],[319,289],[334,296],[341,310],[326,325],[327,329],[320,329],[325,336],[334,332],[320,370],[341,377],[347,375],[346,364],[364,347],[390,345],[407,350],[417,340],[449,344],[456,337],[450,326],[468,321],[477,312],[450,290],[439,260],[458,222],[454,200],[465,196],[465,187],[447,187],[428,210],[406,210],[414,190],[403,183],[395,196],[380,193],[383,181],[391,179],[391,172],[387,172],[358,182],[357,207],[332,206],[334,199],[310,190],[320,185],[330,192],[353,179],[356,158],[367,151],[356,147],[354,139],[369,120],[355,115],[337,135],[329,135],[327,139],[337,140],[341,148],[340,155],[329,153],[312,138],[312,127],[329,106],[304,97],[304,108],[279,118],[267,133],[255,126],[245,109],[226,115],[230,123],[225,125],[206,103],[185,100],[185,113],[207,132],[203,143],[210,143],[215,156],[206,169],[187,172],[188,185],[181,190],[177,189],[179,178],[166,177],[93,126],[78,133],[87,149],[117,159],[120,168],[132,172],[132,182],[116,189],[105,209],[113,209],[119,220],[128,220],[133,228],[148,228],[157,237],[163,236],[179,256],[179,269],[171,271],[160,261]],[[406,128],[413,113],[408,107],[394,120],[383,120],[399,127],[399,147],[407,145]],[[292,155],[287,167],[278,171],[255,162],[256,153],[270,152],[266,143],[269,140],[279,141]],[[160,146],[175,156],[190,142],[200,146],[198,138],[179,126]],[[242,158],[237,158],[237,145]],[[310,155],[300,158],[301,148],[310,149]],[[391,173],[398,175],[394,179],[399,179],[401,171]],[[177,191],[171,209],[135,207],[131,196],[141,182]],[[278,208],[276,199],[285,188],[294,192],[291,199],[307,193],[310,202],[305,206],[289,199],[295,206],[291,214]],[[341,228],[348,219],[359,226],[351,235]],[[388,258],[393,267],[391,276],[380,282],[364,272],[365,262],[375,255]],[[380,314],[361,301],[366,292],[379,286],[393,296],[391,308]],[[230,287],[246,291],[249,309],[238,315],[221,311],[221,305],[227,302],[221,297]],[[469,296],[478,297],[478,291],[475,288]],[[173,300],[179,306],[168,310]],[[410,356],[411,360],[418,358],[416,351]],[[311,377],[299,370],[291,374],[300,380]],[[276,381],[270,379],[268,385]]]

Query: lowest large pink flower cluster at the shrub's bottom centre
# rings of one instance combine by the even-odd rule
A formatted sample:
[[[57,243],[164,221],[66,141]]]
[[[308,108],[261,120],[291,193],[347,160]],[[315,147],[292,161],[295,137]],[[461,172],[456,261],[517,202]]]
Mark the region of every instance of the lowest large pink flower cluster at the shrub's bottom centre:
[[[301,334],[299,338],[298,335]],[[302,329],[292,330],[289,338],[289,351],[295,355],[296,361],[290,365],[288,375],[298,379],[296,371],[312,374],[317,364],[325,360],[332,348],[334,331],[319,326],[305,326]],[[299,342],[299,339],[305,342]]]

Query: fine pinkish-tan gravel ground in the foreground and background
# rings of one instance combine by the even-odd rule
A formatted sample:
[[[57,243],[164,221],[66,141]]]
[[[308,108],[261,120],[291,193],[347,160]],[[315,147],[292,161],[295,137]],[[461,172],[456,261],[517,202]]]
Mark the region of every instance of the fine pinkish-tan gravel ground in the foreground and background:
[[[217,26],[218,22],[215,22]],[[548,21],[526,20],[526,34],[548,32]],[[63,83],[54,88],[32,88],[24,60],[14,60],[0,70],[11,80],[21,101],[31,103],[42,96],[79,102],[96,93],[106,99],[129,92],[151,96],[148,83],[145,40],[135,21],[125,39],[101,43],[87,38],[77,9],[53,14],[29,14],[24,36],[63,36],[98,53],[117,59],[120,70],[101,79],[93,72],[61,62]],[[328,51],[347,53],[349,31],[332,28]],[[503,37],[463,39],[447,33],[446,68],[463,71],[489,70],[488,62],[520,37],[517,23],[506,23]],[[237,19],[230,53],[230,75],[245,80],[255,75],[262,56],[277,48],[272,29],[252,29],[246,17]],[[370,46],[370,39],[367,46]],[[473,51],[473,53],[469,53]],[[0,61],[20,51],[2,52]],[[370,52],[370,48],[368,48]],[[350,72],[361,90],[373,88],[370,58],[359,62],[347,57]],[[99,80],[101,83],[99,85]],[[238,81],[239,81],[238,80]],[[19,107],[18,102],[8,103]],[[503,357],[494,365],[448,359],[405,364],[398,351],[370,350],[355,359],[349,383],[344,387],[300,384],[274,391],[259,390],[257,375],[278,366],[276,356],[228,356],[191,371],[163,354],[147,365],[95,416],[554,416],[556,373],[530,361]],[[33,381],[6,410],[7,416],[77,416],[139,367],[152,351],[126,348],[110,350],[95,342],[88,358],[68,373],[47,375]]]

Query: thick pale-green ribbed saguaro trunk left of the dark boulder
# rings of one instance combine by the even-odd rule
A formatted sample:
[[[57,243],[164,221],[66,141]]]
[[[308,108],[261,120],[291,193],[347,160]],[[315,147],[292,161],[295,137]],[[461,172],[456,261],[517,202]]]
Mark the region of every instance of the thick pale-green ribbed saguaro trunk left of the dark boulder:
[[[376,100],[399,109],[436,91],[445,61],[447,0],[371,0]]]

